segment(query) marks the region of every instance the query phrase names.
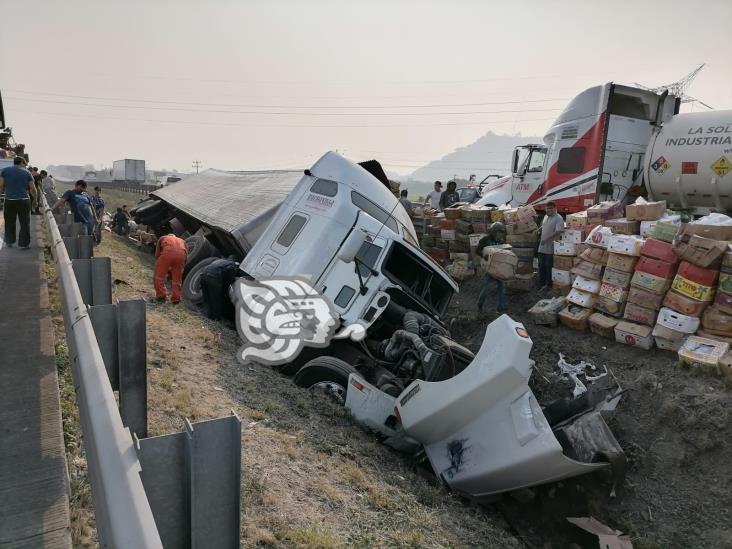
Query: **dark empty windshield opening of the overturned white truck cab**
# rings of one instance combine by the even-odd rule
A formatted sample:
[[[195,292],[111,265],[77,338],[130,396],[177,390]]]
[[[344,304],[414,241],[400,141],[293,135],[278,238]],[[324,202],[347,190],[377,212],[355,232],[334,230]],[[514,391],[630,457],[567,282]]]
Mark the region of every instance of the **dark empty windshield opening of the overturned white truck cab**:
[[[394,242],[382,266],[384,275],[422,305],[443,314],[452,286],[406,246]]]

